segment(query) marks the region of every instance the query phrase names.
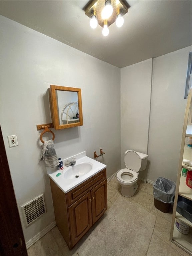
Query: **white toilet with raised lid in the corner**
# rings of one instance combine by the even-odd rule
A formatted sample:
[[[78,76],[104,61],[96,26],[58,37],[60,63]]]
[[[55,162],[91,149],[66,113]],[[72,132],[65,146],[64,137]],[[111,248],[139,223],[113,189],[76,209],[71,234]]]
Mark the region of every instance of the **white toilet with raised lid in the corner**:
[[[125,197],[131,197],[135,194],[138,185],[137,179],[139,172],[145,170],[147,166],[148,155],[133,150],[125,152],[125,166],[117,173],[117,180],[121,184],[121,194]]]

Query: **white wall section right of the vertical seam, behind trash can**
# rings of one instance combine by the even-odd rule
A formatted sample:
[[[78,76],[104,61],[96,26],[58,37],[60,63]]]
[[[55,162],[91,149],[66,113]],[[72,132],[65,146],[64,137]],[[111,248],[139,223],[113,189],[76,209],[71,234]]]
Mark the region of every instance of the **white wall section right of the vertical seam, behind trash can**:
[[[188,57],[191,47],[153,61],[148,179],[159,176],[176,181],[183,121]]]

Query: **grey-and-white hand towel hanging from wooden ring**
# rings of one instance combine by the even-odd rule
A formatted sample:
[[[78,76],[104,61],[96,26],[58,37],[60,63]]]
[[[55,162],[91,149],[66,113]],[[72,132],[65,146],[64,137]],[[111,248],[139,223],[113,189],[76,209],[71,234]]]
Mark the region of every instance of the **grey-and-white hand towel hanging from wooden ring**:
[[[59,160],[54,148],[53,140],[45,141],[41,152],[41,158],[45,161],[46,167],[55,167],[59,165]]]

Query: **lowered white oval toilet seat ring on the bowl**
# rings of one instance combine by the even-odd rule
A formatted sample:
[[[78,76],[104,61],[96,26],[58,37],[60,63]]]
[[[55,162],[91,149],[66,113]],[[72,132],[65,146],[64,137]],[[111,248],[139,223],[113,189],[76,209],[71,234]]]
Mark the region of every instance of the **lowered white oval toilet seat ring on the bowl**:
[[[122,176],[126,175],[126,174],[127,175],[130,174],[129,176],[132,176],[132,178],[129,179],[129,180],[123,179]],[[135,171],[132,171],[130,169],[124,168],[124,169],[121,169],[120,171],[118,171],[117,179],[118,179],[120,184],[131,186],[132,184],[134,184],[137,181],[138,175],[139,175],[139,173],[137,173]]]

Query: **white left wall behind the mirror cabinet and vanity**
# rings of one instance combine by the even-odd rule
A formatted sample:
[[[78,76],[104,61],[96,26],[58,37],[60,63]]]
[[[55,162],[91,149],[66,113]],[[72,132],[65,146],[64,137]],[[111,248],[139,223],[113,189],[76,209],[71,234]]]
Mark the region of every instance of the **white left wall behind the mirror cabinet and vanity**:
[[[1,16],[1,128],[18,206],[45,192],[47,213],[24,228],[26,242],[54,221],[36,125],[50,123],[50,84],[81,88],[83,126],[54,130],[58,157],[86,151],[120,168],[120,69]],[[114,118],[115,117],[115,118]],[[8,135],[18,147],[9,148]],[[45,140],[46,137],[43,137]]]

